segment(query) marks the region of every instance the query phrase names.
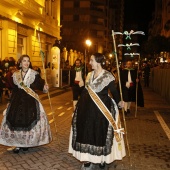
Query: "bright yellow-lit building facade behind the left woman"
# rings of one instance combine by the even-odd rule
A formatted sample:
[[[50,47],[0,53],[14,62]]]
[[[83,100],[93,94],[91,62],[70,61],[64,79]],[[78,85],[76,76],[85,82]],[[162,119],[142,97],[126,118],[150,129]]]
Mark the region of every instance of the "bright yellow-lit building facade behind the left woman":
[[[0,59],[22,54],[31,57],[33,66],[51,62],[50,50],[60,37],[60,0],[1,0]]]

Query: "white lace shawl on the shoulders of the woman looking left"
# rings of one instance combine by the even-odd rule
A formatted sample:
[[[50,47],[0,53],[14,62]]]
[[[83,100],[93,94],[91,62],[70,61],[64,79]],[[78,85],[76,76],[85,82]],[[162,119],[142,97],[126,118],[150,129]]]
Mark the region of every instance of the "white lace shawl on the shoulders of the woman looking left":
[[[102,91],[103,88],[106,87],[111,81],[115,80],[113,75],[106,70],[103,70],[101,74],[94,80],[93,80],[93,76],[94,76],[94,71],[88,73],[86,78],[86,87],[87,85],[90,85],[90,87],[95,92]]]

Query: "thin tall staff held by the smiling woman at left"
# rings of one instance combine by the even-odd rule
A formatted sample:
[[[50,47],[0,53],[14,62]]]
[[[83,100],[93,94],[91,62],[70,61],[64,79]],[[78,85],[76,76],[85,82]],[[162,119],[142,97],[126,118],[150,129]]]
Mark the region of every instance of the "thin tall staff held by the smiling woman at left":
[[[42,61],[42,66],[43,66],[44,77],[45,77],[45,84],[47,84],[47,77],[46,77],[45,66],[44,66],[45,54],[42,51],[41,41],[40,41],[40,34],[39,33],[38,33],[38,42],[39,42],[39,47],[40,47],[40,56],[41,56],[41,61]],[[50,108],[51,108],[51,113],[49,113],[48,115],[52,115],[52,117],[53,117],[53,119],[51,121],[49,121],[49,123],[54,123],[55,131],[56,131],[56,134],[57,134],[57,125],[56,125],[54,111],[53,111],[52,104],[51,104],[50,93],[49,93],[49,91],[47,93],[48,93],[48,99],[49,99]]]

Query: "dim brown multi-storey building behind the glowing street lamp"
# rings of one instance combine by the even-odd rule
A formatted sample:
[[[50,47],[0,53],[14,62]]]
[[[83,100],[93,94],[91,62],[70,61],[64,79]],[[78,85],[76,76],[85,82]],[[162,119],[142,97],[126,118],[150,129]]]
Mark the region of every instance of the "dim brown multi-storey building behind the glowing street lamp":
[[[113,50],[112,30],[123,30],[123,0],[62,0],[61,36],[68,50]],[[90,39],[88,48],[85,41]],[[121,41],[121,38],[119,38]]]

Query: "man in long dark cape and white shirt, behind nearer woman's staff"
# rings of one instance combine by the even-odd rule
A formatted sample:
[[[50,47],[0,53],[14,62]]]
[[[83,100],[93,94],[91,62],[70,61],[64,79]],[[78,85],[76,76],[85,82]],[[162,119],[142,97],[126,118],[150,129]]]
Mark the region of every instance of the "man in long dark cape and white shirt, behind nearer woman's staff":
[[[123,101],[125,102],[125,115],[130,113],[131,102],[136,102],[136,84],[138,83],[138,95],[143,96],[142,88],[137,77],[137,70],[132,67],[132,61],[126,62],[126,67],[120,71]],[[139,99],[139,98],[138,98]],[[143,100],[143,99],[140,99]],[[144,102],[138,100],[138,105],[143,107]]]

